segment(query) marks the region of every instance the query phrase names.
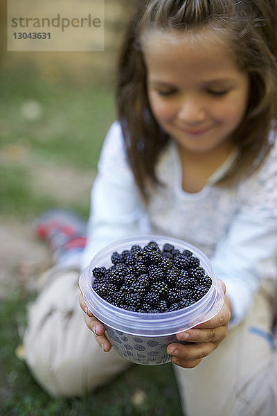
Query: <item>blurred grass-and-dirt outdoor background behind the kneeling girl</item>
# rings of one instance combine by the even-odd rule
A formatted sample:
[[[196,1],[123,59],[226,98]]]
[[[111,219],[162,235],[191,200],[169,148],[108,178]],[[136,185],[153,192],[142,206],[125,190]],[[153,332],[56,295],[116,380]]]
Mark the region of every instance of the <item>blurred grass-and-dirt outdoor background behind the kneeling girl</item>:
[[[102,141],[116,117],[118,46],[134,0],[105,0],[105,51],[8,52],[0,3],[0,416],[181,415],[170,365],[135,366],[107,389],[53,400],[33,381],[20,336],[51,255],[33,220],[51,207],[89,216]]]

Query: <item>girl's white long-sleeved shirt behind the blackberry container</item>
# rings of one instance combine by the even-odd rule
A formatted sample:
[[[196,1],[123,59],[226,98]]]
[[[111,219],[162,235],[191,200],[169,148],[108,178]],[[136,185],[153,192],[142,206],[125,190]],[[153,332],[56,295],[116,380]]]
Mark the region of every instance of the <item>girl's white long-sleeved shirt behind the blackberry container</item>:
[[[152,232],[195,245],[224,281],[233,306],[233,324],[249,311],[264,278],[276,279],[277,144],[259,170],[232,187],[214,186],[233,157],[208,180],[202,191],[181,187],[181,162],[174,141],[159,157],[154,189],[145,209],[127,162],[118,122],[111,125],[91,191],[88,244],[82,266],[105,245],[126,236]]]

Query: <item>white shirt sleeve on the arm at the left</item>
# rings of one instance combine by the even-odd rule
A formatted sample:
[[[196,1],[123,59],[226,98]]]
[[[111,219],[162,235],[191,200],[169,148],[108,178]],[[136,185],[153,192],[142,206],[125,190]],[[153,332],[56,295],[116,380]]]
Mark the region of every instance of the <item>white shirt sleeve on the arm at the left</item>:
[[[115,122],[102,146],[98,174],[91,190],[88,241],[82,267],[105,245],[141,234],[146,231],[145,227],[143,202],[127,162],[120,124]]]

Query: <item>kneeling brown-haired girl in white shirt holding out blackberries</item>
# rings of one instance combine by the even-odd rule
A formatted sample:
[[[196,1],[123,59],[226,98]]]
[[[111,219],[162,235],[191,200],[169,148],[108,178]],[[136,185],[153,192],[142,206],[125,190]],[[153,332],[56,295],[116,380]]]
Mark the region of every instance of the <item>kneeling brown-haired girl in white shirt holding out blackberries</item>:
[[[276,414],[276,57],[276,0],[140,1],[123,42],[82,266],[145,228],[211,258],[224,306],[168,346],[188,416]],[[78,277],[54,268],[30,309],[27,361],[53,395],[129,365],[80,297],[102,349],[82,326]]]

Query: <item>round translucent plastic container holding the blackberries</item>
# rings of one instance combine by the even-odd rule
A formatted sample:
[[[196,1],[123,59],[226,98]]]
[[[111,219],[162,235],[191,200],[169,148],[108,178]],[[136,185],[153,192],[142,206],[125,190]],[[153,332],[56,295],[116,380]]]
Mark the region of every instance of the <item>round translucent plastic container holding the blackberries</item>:
[[[190,250],[199,258],[200,266],[213,281],[211,288],[202,299],[177,311],[139,313],[120,309],[103,300],[93,290],[93,268],[102,266],[109,268],[112,264],[113,252],[129,250],[134,244],[143,247],[149,241],[156,241],[160,248],[165,243],[170,243],[179,250]],[[210,320],[220,311],[224,302],[222,286],[215,279],[211,263],[202,251],[185,241],[155,234],[116,241],[100,250],[89,266],[83,270],[79,285],[89,310],[105,325],[107,338],[114,349],[132,363],[143,365],[168,363],[170,356],[166,353],[166,348],[169,344],[178,342],[176,333]]]

